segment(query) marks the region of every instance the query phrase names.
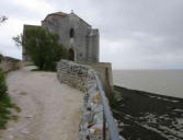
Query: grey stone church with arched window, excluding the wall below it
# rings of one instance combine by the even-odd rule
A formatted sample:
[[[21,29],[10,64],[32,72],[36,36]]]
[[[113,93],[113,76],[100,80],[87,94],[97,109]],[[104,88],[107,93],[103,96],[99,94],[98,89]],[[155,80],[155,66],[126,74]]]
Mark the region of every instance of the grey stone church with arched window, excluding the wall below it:
[[[59,35],[59,43],[68,49],[70,60],[99,62],[99,30],[92,28],[73,12],[50,13],[42,21],[42,26],[24,25],[23,30],[38,27]],[[24,49],[23,61],[31,61]]]

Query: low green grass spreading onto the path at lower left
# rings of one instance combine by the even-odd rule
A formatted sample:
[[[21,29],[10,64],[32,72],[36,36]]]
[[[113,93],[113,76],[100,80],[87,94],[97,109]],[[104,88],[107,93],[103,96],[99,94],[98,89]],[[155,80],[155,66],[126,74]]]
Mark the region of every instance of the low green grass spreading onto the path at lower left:
[[[11,102],[10,96],[5,94],[0,95],[0,129],[5,129],[8,120],[18,120],[18,116],[11,113],[11,108],[15,109],[18,113],[21,108]]]

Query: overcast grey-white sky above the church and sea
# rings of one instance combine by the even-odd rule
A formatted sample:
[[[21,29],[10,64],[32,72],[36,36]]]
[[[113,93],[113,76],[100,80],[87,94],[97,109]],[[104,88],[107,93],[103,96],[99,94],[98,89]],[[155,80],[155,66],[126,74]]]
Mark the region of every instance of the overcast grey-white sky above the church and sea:
[[[183,69],[183,0],[1,0],[0,52],[22,58],[23,24],[71,10],[100,31],[100,61],[113,69]]]

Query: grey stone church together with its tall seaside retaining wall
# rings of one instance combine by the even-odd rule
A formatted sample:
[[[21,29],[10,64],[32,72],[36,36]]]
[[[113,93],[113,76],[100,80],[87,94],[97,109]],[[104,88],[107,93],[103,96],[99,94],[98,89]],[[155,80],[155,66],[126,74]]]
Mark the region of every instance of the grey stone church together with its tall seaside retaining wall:
[[[58,34],[59,43],[62,44],[69,52],[69,59],[77,63],[83,63],[98,71],[105,93],[113,92],[112,66],[110,62],[99,61],[100,35],[98,28],[79,18],[71,11],[70,13],[55,12],[48,14],[42,25],[24,25],[23,33],[30,28],[44,28],[49,33]],[[32,65],[30,56],[23,48],[24,65]]]

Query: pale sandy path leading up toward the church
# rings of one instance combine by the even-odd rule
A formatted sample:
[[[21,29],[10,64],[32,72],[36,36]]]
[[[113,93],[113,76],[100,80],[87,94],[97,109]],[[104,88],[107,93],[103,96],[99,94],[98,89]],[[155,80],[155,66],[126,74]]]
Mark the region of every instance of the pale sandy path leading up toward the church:
[[[21,107],[0,140],[77,140],[83,93],[60,84],[54,72],[10,72],[9,94]]]

